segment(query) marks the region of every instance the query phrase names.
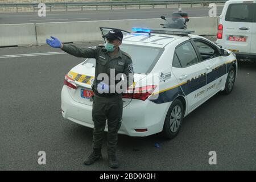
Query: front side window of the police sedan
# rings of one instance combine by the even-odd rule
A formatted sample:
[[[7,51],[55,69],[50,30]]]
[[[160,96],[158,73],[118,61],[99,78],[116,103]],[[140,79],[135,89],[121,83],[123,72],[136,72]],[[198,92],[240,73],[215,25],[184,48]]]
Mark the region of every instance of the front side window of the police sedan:
[[[194,40],[197,49],[203,60],[211,59],[216,55],[217,49],[214,49],[212,46],[209,46],[207,43],[201,40]]]

